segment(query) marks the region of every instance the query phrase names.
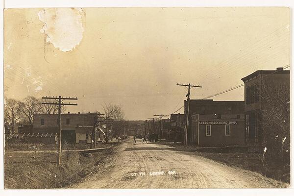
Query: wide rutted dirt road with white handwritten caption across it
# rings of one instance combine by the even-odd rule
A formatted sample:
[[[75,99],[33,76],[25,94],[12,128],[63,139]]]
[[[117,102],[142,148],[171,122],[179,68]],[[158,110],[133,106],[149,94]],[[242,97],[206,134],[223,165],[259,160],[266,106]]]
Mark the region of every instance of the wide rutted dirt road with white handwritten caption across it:
[[[116,165],[71,188],[274,188],[278,182],[258,173],[222,165],[194,152],[137,141],[120,146]]]

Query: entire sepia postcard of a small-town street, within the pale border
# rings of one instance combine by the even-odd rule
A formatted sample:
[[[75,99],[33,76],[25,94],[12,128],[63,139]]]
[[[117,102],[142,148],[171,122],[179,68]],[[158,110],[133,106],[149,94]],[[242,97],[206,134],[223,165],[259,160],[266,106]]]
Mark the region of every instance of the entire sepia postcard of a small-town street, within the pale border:
[[[290,8],[4,9],[4,189],[290,187]]]

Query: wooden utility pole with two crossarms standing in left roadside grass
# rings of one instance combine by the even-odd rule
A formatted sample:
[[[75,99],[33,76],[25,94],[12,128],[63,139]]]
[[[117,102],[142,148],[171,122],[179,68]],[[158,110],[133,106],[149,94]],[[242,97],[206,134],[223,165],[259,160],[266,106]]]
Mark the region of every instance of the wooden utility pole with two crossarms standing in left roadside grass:
[[[65,106],[65,105],[77,105],[77,103],[63,103],[62,101],[64,100],[77,100],[77,98],[71,98],[71,97],[42,97],[42,99],[54,99],[55,101],[58,102],[42,102],[42,104],[46,104],[46,105],[58,105],[58,128],[59,128],[59,138],[58,138],[58,158],[57,158],[57,164],[60,165],[60,161],[61,161],[61,135],[62,135],[62,128],[61,128],[61,107]]]

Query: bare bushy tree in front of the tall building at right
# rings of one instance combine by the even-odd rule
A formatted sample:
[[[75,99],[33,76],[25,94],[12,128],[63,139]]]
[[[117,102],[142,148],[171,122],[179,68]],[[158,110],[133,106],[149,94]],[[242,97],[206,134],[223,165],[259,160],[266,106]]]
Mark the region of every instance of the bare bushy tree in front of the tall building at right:
[[[283,151],[290,150],[290,86],[289,84],[263,85],[263,144],[270,160],[283,158]]]

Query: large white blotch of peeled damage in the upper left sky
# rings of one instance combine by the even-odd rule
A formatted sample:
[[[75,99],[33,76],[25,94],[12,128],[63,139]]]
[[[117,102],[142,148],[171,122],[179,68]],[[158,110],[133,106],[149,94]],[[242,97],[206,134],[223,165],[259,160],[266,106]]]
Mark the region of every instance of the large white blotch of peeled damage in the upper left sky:
[[[46,41],[61,51],[71,51],[83,38],[82,10],[77,8],[45,8],[38,12],[44,23],[41,33]]]

